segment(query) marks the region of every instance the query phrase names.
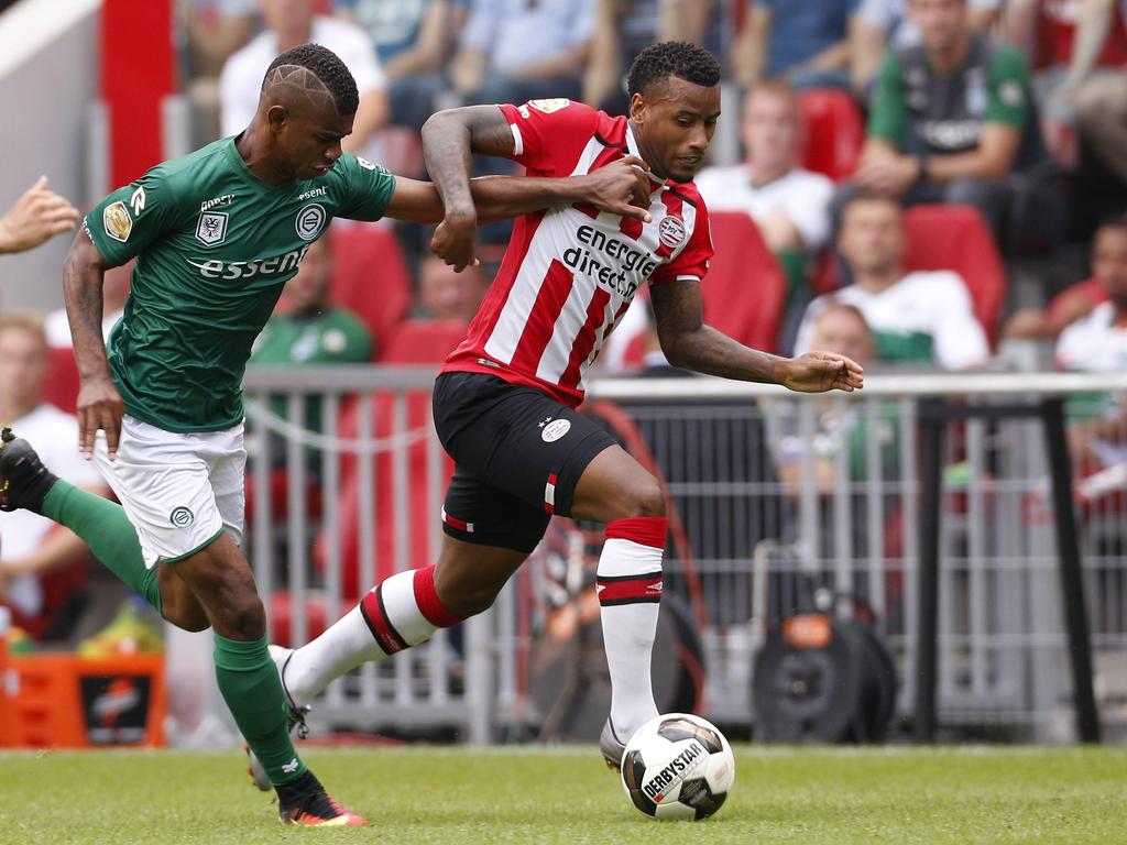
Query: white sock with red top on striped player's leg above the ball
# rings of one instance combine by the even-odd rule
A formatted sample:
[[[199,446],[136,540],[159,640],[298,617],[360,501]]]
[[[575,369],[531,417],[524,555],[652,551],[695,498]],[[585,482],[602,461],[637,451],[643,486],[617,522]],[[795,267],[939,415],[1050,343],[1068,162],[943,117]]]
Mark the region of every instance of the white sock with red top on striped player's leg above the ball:
[[[666,518],[639,516],[606,525],[596,589],[611,670],[611,721],[625,742],[657,715],[650,657],[662,601]]]

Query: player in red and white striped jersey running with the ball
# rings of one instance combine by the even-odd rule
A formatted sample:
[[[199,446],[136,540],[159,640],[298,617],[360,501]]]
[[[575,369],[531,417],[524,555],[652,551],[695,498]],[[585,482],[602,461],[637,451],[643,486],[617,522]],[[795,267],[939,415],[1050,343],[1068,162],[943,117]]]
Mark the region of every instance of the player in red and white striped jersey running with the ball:
[[[712,243],[692,179],[720,116],[719,82],[711,54],[663,43],[631,68],[628,117],[549,99],[442,112],[424,127],[427,168],[461,235],[449,255],[455,265],[473,250],[463,224],[476,217],[471,152],[549,178],[638,157],[648,162],[649,214],[627,220],[578,203],[517,221],[485,304],[435,384],[435,426],[455,462],[438,560],[385,579],[303,648],[273,650],[295,710],[361,662],[489,607],[559,514],[606,524],[597,589],[612,681],[600,742],[609,765],[620,764],[631,733],[657,714],[650,651],[665,499],[653,475],[575,410],[600,347],[649,284],[662,347],[677,366],[804,392],[862,386],[861,367],[844,356],[766,355],[701,321]]]

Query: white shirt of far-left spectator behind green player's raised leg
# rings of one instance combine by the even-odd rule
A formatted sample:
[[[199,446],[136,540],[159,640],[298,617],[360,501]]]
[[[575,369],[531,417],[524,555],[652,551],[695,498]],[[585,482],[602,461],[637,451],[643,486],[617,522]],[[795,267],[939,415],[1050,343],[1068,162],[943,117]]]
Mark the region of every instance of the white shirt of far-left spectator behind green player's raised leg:
[[[105,486],[95,465],[79,454],[78,418],[44,403],[11,422],[11,428],[35,447],[44,465],[59,478],[76,487]],[[54,527],[51,519],[30,510],[0,512],[0,557],[26,558]],[[8,585],[8,602],[28,616],[37,614],[43,607],[38,577],[25,575],[12,580]]]

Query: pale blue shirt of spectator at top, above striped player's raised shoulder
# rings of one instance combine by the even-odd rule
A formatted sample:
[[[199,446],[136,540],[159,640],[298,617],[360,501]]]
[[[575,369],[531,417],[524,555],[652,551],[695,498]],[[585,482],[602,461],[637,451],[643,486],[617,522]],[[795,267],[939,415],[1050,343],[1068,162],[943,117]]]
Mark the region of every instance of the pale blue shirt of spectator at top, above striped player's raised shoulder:
[[[476,0],[461,44],[488,53],[490,71],[514,73],[589,41],[595,1]]]

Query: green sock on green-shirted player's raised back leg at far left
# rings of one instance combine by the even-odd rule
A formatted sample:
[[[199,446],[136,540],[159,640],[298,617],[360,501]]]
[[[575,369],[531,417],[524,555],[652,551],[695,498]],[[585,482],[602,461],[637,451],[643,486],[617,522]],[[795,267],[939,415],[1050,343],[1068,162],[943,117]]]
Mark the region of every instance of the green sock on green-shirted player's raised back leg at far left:
[[[162,613],[157,567],[145,568],[136,530],[121,505],[60,480],[43,499],[43,515],[78,534],[95,558]]]

